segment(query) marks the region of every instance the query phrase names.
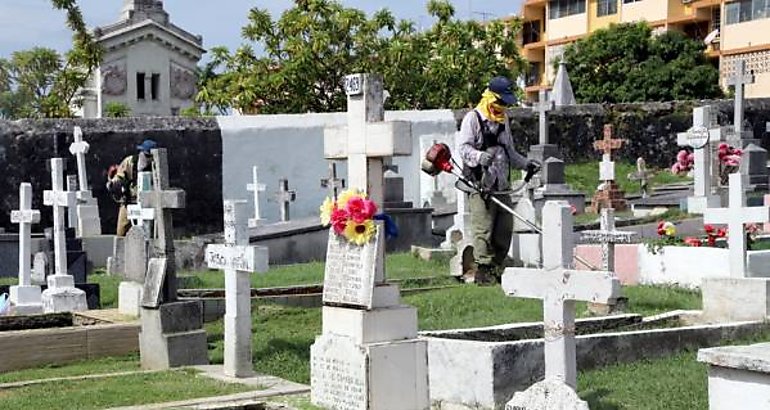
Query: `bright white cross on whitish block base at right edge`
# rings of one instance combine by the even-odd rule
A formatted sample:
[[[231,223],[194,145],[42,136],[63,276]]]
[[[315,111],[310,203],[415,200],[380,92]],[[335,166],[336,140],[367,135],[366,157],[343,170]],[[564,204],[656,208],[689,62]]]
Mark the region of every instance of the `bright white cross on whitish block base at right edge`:
[[[730,272],[726,278],[705,278],[701,287],[703,315],[712,321],[765,320],[770,316],[770,279],[751,277],[746,263],[744,224],[770,221],[770,208],[746,207],[743,176],[730,174],[728,208],[710,208],[703,215],[707,224],[726,224]]]

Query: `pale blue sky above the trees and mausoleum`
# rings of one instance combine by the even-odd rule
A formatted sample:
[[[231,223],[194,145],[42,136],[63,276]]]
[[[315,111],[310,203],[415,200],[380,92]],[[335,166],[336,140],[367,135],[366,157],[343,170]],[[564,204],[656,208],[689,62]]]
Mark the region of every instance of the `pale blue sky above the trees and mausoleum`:
[[[389,8],[398,18],[429,26],[427,0],[342,0],[348,7],[372,13]],[[508,16],[520,11],[521,0],[452,0],[455,15],[467,19]],[[78,0],[86,24],[95,27],[113,23],[120,16],[122,0]],[[203,36],[205,48],[241,44],[240,30],[252,7],[266,8],[274,19],[287,9],[291,0],[166,0],[171,21],[183,29]],[[35,46],[65,51],[71,33],[64,26],[64,13],[54,10],[50,0],[0,0],[0,57]]]

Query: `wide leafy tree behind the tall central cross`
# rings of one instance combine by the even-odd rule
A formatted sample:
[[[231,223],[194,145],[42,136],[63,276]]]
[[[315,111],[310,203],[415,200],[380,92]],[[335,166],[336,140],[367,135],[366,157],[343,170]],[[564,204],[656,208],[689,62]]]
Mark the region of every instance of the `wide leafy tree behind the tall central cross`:
[[[523,66],[517,20],[458,21],[446,0],[431,0],[428,12],[438,22],[419,32],[386,9],[368,18],[333,0],[295,0],[277,21],[254,8],[242,30],[247,43],[212,50],[197,101],[247,113],[342,111],[344,76],[377,72],[389,108],[462,107],[489,78],[515,77]]]

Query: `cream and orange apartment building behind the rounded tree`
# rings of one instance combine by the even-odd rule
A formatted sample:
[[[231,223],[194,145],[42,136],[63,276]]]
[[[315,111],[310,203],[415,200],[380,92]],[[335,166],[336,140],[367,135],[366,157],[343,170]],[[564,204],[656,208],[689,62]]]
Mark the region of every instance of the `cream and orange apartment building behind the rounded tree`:
[[[531,100],[553,84],[553,62],[569,44],[612,23],[637,21],[656,32],[708,40],[706,55],[719,68],[722,87],[745,59],[756,79],[747,97],[770,97],[770,0],[525,0],[519,17]]]

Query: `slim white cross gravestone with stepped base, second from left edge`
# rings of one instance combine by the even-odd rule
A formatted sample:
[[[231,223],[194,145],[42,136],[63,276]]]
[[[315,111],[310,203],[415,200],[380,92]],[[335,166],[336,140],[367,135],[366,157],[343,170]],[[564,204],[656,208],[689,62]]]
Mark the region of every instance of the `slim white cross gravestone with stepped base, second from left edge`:
[[[74,278],[67,273],[67,243],[64,210],[72,206],[75,192],[64,190],[64,160],[51,160],[51,190],[43,192],[43,203],[53,207],[54,274],[47,278],[48,289],[43,291],[45,313],[88,310],[86,293],[75,288]]]

